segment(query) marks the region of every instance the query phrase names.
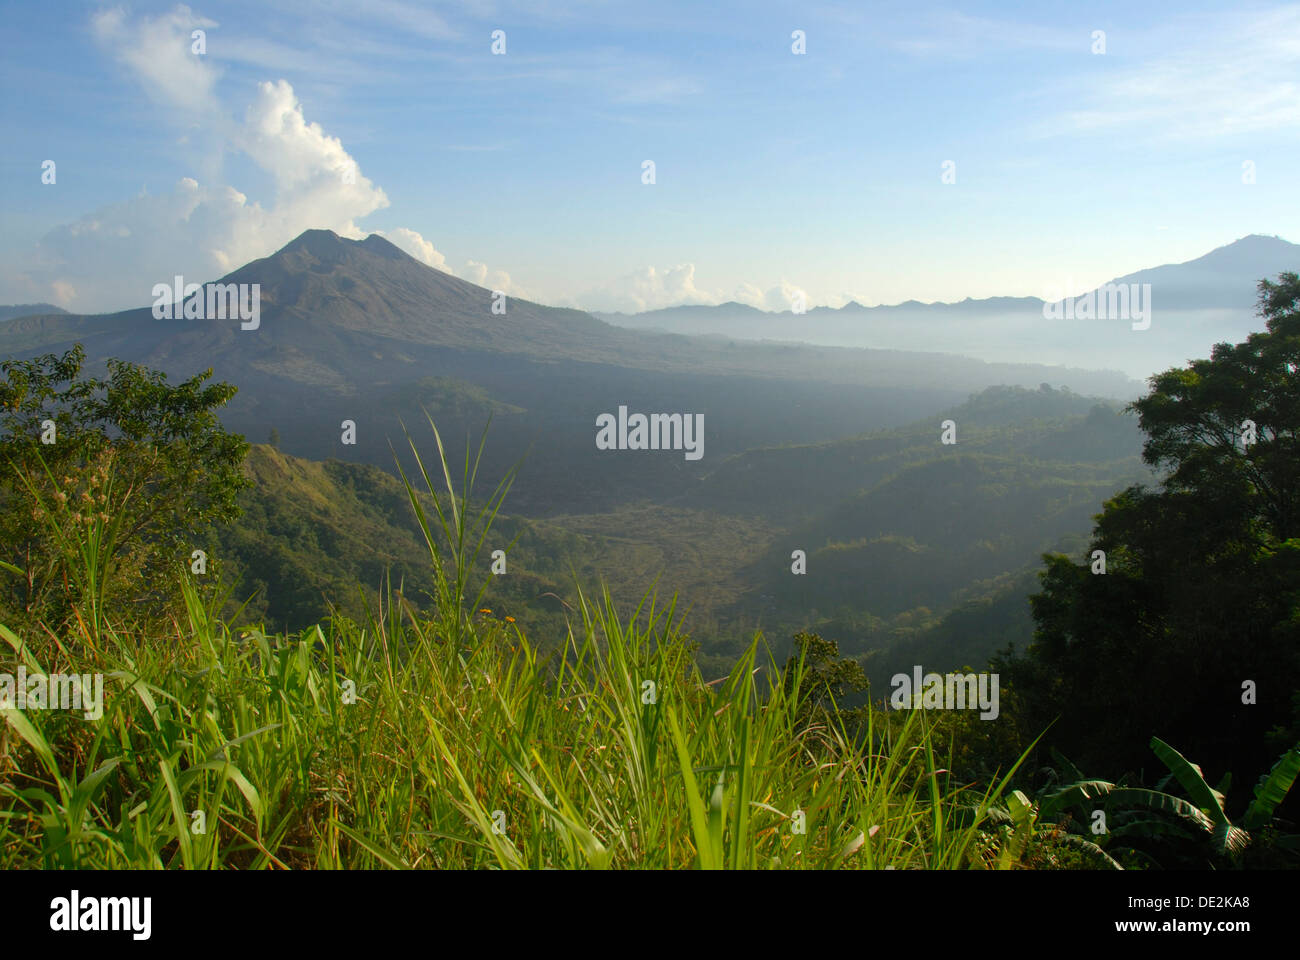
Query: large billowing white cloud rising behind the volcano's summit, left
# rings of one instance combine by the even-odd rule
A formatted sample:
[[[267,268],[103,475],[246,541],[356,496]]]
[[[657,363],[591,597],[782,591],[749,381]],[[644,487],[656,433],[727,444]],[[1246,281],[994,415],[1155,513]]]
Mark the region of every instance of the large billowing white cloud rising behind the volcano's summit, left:
[[[213,94],[216,74],[188,52],[194,25],[212,22],[185,7],[138,22],[114,9],[94,20],[94,33],[151,98],[268,174],[266,202],[226,183],[182,177],[168,193],[142,193],[51,230],[26,269],[5,277],[8,289],[61,297],[81,311],[143,306],[155,282],[177,273],[216,278],[311,228],[359,239],[365,232],[356,220],[389,206],[339,139],[307,121],[286,81],[257,85],[242,121],[234,120]],[[429,250],[428,256],[441,256]]]

